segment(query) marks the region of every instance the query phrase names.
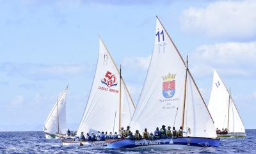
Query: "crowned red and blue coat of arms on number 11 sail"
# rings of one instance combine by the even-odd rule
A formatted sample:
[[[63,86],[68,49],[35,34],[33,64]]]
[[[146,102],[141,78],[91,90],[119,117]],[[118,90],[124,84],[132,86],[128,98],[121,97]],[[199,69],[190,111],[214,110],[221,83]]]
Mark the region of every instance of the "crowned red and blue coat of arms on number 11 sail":
[[[163,96],[165,98],[171,98],[175,94],[175,76],[176,74],[168,73],[163,76]]]

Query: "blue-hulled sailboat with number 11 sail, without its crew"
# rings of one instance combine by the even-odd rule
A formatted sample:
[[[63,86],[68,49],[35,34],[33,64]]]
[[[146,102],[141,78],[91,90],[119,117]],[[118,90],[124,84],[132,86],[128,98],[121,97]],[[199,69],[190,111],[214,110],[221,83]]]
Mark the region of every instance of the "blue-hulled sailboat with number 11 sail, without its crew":
[[[182,126],[184,137],[156,140],[118,139],[109,148],[188,148],[219,146],[214,122],[204,99],[177,47],[159,18],[156,20],[154,51],[139,102],[131,120],[131,130],[154,132],[161,125]]]

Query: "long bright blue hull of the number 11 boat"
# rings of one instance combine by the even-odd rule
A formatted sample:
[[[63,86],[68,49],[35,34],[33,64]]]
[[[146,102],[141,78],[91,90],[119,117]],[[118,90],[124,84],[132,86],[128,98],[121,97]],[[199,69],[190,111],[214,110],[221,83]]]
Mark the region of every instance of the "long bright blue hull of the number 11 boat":
[[[156,140],[130,140],[120,139],[115,141],[107,141],[108,148],[140,148],[146,146],[198,146],[198,147],[218,147],[220,139],[211,139],[204,137],[180,137],[176,139],[156,139]]]

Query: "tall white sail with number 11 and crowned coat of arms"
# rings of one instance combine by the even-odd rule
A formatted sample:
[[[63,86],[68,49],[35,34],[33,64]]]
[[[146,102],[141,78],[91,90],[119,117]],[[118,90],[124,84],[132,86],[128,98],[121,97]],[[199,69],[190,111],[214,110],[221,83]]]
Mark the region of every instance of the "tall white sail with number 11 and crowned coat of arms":
[[[186,64],[157,18],[154,51],[147,78],[131,121],[132,131],[182,125]],[[188,71],[184,129],[188,136],[216,137],[214,123]],[[159,128],[160,129],[160,128]]]

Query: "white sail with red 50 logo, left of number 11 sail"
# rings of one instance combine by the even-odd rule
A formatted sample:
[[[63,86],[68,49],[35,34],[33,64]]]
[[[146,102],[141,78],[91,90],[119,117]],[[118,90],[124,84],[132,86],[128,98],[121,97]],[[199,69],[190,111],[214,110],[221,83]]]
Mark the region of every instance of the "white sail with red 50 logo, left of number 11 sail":
[[[99,46],[97,69],[77,134],[119,129],[120,73],[101,39]],[[121,126],[125,127],[131,122],[134,104],[123,80],[121,88]]]

